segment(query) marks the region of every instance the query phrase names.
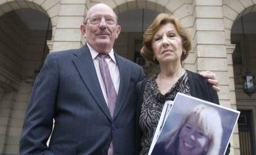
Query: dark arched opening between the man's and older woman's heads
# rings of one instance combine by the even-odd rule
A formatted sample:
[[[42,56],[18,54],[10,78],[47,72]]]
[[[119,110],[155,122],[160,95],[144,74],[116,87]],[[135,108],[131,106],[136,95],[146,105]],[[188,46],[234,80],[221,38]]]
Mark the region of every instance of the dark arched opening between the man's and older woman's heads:
[[[114,49],[122,57],[142,66],[148,76],[150,76],[150,68],[153,67],[153,64],[150,64],[140,55],[142,35],[158,14],[155,10],[135,9],[118,15],[118,22],[122,31],[114,44]],[[128,18],[129,20],[127,20]]]

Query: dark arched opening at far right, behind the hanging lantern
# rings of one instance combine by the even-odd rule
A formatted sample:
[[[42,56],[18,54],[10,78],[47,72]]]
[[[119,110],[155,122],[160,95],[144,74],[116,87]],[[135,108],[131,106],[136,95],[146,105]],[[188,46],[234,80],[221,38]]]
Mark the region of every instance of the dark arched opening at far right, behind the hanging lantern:
[[[249,13],[248,10],[250,7],[237,17],[231,29],[231,44],[236,45],[233,52],[233,68],[237,109],[241,111],[238,121],[241,154],[255,154],[256,152],[254,147],[256,95],[249,97],[242,90],[242,76],[245,72],[250,71],[256,74],[256,12]]]

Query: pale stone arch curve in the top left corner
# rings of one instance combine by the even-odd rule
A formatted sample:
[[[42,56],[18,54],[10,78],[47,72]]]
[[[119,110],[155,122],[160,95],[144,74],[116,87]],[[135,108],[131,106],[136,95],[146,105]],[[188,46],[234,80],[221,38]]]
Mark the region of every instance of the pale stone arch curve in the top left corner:
[[[51,19],[53,38],[58,20],[59,7],[60,0],[34,0],[33,2],[28,0],[0,0],[0,16],[17,9],[33,9],[43,12],[43,14]]]

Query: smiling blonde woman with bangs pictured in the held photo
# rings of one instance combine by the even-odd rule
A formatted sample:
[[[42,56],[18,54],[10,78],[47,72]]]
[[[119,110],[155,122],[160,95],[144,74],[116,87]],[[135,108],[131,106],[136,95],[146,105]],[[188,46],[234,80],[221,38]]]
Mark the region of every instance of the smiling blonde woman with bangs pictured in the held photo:
[[[156,143],[152,154],[218,155],[222,132],[218,111],[210,106],[197,105],[185,114],[176,130]]]

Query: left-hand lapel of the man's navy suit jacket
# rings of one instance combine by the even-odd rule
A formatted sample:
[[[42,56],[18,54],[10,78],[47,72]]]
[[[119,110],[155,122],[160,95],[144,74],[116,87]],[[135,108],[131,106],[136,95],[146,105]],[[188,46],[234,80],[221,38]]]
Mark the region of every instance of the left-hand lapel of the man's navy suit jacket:
[[[108,119],[111,120],[109,109],[101,91],[100,82],[98,81],[98,76],[96,74],[90,50],[85,45],[79,49],[79,51],[75,52],[74,55],[77,57],[73,59],[73,62],[79,71],[83,82],[87,86],[89,92],[92,94],[92,97],[95,99],[96,103],[98,103]]]

